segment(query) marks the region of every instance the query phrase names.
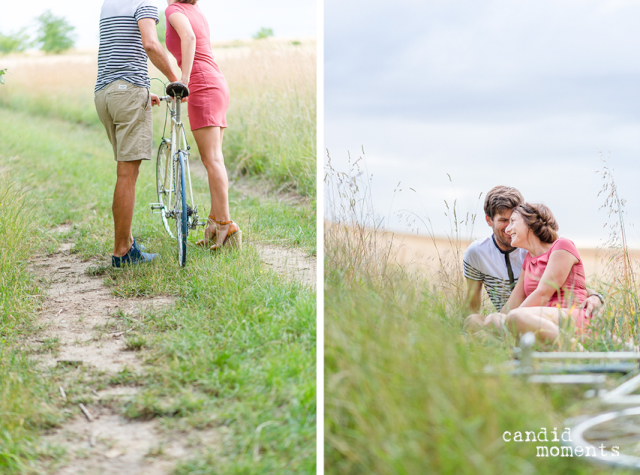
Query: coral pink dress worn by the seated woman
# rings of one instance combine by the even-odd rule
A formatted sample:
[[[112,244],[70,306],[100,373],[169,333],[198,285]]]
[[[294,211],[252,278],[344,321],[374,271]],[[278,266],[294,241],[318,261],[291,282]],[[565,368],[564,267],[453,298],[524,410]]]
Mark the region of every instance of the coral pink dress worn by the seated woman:
[[[551,248],[544,254],[532,257],[527,253],[522,263],[522,273],[524,276],[524,293],[528,297],[536,290],[538,283],[544,274],[547,265],[549,264],[549,258],[551,253],[558,250],[564,250],[570,252],[578,259],[578,262],[573,265],[567,280],[562,284],[560,289],[553,294],[547,307],[561,307],[570,309],[574,307],[577,309],[582,302],[587,298],[587,281],[584,273],[584,266],[580,254],[576,245],[566,238],[560,238],[551,245]],[[584,327],[589,323],[589,317],[585,316],[584,311],[575,311],[574,322],[577,327]]]

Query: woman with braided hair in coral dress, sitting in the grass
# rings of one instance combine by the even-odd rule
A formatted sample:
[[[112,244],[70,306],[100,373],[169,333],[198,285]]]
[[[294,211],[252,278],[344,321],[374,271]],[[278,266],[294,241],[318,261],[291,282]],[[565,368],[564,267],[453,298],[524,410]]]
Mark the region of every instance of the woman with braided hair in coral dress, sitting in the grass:
[[[536,332],[547,342],[560,336],[566,319],[583,331],[590,323],[582,308],[587,298],[584,266],[575,244],[558,237],[558,224],[549,208],[528,203],[518,206],[505,231],[512,246],[529,253],[505,304],[505,309],[512,310],[506,315],[489,315],[485,325],[506,326],[519,335]]]

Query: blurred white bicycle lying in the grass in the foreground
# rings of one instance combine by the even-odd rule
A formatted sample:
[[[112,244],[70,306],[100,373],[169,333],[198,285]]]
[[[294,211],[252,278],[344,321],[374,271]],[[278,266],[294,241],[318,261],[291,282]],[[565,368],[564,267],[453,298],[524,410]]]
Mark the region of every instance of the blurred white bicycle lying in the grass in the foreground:
[[[570,440],[562,439],[572,453],[589,454],[586,459],[618,468],[640,469],[640,352],[534,352],[535,336],[523,335],[514,349],[515,361],[500,368],[530,383],[584,384],[595,387],[585,392],[586,399],[603,406],[632,406],[587,414],[566,421]],[[578,360],[578,364],[558,363]],[[598,360],[600,362],[588,363]],[[607,361],[607,362],[602,362]],[[609,361],[615,361],[610,363]],[[587,363],[584,363],[587,362]],[[485,374],[499,370],[486,367]],[[612,389],[605,389],[608,374],[622,374]]]

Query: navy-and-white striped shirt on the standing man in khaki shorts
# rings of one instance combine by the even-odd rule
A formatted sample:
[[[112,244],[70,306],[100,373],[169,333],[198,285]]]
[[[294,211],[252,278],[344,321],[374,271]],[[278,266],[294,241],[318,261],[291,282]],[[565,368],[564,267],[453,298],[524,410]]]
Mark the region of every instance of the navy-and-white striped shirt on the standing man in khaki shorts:
[[[118,79],[150,87],[147,52],[138,28],[138,21],[143,18],[153,18],[158,23],[158,8],[153,0],[105,0],[102,4],[95,91]]]

